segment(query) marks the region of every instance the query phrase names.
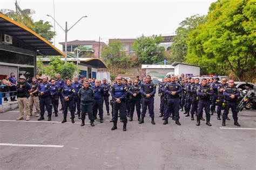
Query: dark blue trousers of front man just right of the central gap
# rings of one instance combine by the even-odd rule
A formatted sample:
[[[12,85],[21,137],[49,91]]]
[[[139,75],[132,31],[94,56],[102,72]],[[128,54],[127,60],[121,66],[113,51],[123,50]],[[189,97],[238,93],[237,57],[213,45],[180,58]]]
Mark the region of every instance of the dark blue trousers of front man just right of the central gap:
[[[167,107],[165,109],[164,118],[170,117],[170,113],[173,113],[176,120],[179,120],[179,98],[168,98]]]

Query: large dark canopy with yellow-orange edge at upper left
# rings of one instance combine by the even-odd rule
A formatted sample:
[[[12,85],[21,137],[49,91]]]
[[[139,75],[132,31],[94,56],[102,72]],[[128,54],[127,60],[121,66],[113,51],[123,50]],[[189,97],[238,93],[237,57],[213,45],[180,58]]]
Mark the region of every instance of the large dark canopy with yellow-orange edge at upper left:
[[[8,46],[21,47],[37,52],[37,55],[65,55],[28,27],[0,13],[0,32],[12,36],[12,44]]]

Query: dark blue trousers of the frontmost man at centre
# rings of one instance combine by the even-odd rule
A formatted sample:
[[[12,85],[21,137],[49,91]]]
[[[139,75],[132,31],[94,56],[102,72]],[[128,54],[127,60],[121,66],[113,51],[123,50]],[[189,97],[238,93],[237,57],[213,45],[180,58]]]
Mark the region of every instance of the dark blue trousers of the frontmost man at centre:
[[[122,119],[123,123],[127,123],[127,113],[126,113],[126,104],[123,100],[121,103],[114,102],[113,103],[113,122],[117,123],[118,120],[118,111],[120,113],[120,118]]]

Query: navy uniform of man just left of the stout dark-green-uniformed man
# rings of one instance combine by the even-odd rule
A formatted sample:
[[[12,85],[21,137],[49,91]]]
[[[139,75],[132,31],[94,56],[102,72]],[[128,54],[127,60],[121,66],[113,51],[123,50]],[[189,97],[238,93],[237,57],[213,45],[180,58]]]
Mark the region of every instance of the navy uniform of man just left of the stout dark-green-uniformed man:
[[[63,116],[68,115],[68,108],[70,109],[71,118],[75,118],[75,101],[73,95],[75,94],[75,89],[70,86],[64,86],[62,90],[62,97],[69,97],[68,101],[64,100]]]

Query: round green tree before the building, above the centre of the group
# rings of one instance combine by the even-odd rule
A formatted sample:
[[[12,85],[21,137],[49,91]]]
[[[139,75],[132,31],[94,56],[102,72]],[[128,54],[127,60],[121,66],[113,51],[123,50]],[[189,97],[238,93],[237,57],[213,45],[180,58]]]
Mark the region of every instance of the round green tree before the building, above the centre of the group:
[[[145,37],[142,35],[133,42],[133,49],[138,55],[138,61],[143,64],[153,64],[164,60],[164,48],[158,45],[163,42],[161,36]]]

